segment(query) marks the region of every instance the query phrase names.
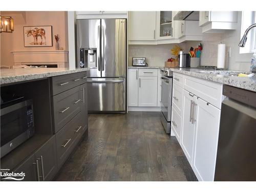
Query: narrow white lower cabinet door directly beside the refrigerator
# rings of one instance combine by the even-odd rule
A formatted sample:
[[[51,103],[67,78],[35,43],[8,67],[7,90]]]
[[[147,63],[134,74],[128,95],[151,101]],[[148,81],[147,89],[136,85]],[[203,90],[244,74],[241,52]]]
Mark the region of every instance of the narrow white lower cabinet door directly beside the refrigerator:
[[[138,69],[128,70],[128,106],[138,106]]]

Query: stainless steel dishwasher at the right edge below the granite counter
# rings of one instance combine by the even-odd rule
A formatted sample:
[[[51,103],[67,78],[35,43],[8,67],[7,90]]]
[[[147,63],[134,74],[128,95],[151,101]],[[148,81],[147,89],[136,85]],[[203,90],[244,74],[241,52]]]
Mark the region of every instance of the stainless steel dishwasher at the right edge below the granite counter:
[[[256,93],[223,86],[215,181],[256,181]]]

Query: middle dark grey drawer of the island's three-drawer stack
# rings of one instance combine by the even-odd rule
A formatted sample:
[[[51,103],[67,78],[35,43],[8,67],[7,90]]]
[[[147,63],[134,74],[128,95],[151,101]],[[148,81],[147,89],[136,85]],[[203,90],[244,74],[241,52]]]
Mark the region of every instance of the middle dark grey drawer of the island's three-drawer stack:
[[[82,100],[80,86],[53,96],[55,133],[81,111]]]

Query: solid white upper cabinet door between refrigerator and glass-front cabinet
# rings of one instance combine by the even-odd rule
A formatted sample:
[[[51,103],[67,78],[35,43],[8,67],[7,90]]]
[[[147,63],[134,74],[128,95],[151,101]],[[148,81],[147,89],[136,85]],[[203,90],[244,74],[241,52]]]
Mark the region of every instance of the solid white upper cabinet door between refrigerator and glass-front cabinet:
[[[129,40],[156,40],[156,11],[131,11],[129,21]]]

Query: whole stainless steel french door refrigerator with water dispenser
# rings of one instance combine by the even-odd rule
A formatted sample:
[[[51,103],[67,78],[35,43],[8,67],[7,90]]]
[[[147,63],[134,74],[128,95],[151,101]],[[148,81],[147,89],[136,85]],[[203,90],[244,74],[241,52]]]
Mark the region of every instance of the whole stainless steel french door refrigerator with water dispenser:
[[[77,67],[87,72],[88,111],[126,112],[126,19],[77,19]]]

